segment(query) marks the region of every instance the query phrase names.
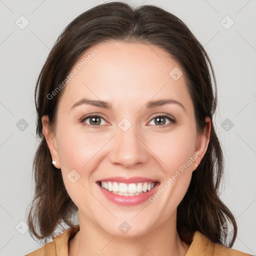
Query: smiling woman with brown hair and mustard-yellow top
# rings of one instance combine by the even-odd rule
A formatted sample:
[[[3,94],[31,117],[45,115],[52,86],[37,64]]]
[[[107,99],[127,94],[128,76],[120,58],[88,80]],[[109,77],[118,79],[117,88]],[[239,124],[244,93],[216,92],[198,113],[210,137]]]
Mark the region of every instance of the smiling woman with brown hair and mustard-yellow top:
[[[27,255],[248,255],[228,248],[214,92],[207,53],[173,14],[110,2],[76,17],[36,84],[27,220],[54,240]]]

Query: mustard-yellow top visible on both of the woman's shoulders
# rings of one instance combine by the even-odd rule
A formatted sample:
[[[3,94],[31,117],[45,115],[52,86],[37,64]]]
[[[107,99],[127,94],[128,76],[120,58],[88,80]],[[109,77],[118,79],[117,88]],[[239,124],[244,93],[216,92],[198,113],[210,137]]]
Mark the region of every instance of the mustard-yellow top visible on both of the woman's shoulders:
[[[53,241],[44,244],[41,248],[26,254],[25,256],[68,256],[68,241],[80,229],[79,225],[66,229],[56,236]],[[193,240],[185,256],[251,256],[238,250],[210,241],[199,231],[195,231]]]

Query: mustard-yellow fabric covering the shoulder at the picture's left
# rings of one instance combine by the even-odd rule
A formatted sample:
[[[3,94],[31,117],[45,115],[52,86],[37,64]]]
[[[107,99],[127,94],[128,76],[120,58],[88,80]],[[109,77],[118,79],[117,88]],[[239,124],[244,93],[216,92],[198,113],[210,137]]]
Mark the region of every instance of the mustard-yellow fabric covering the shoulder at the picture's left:
[[[72,238],[78,231],[79,225],[70,227],[58,236],[56,236],[53,241],[44,244],[41,248],[36,249],[25,256],[67,256],[68,254],[68,241]]]

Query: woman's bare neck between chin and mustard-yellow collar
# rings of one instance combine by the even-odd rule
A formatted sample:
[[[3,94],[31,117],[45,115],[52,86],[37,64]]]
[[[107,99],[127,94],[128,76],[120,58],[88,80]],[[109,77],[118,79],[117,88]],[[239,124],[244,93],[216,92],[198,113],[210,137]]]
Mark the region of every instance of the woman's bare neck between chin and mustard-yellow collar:
[[[179,238],[175,220],[173,223],[170,219],[140,236],[120,237],[79,219],[80,230],[69,241],[68,256],[184,256],[189,245]]]

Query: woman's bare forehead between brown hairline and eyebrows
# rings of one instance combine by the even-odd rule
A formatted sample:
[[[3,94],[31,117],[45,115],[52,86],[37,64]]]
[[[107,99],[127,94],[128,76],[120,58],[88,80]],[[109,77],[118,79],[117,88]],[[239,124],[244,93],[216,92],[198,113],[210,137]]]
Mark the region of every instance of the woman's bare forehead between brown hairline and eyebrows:
[[[116,107],[125,102],[142,105],[150,99],[174,98],[191,107],[181,67],[155,45],[98,43],[77,59],[71,72],[75,75],[60,99],[69,107],[82,97],[110,101]]]

